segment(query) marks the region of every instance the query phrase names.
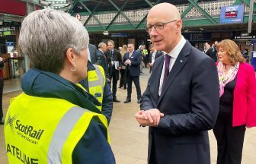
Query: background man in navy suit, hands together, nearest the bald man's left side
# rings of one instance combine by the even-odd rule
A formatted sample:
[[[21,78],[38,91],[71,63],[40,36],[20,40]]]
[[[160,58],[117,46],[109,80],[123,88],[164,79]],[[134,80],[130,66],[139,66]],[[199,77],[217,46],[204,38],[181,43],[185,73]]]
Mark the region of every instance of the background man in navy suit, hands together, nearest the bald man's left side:
[[[132,84],[135,84],[137,92],[137,103],[142,100],[141,90],[139,86],[140,62],[142,61],[142,54],[139,51],[134,51],[133,43],[128,44],[128,52],[123,55],[123,65],[126,65],[126,79],[127,79],[127,97],[124,103],[131,102]]]

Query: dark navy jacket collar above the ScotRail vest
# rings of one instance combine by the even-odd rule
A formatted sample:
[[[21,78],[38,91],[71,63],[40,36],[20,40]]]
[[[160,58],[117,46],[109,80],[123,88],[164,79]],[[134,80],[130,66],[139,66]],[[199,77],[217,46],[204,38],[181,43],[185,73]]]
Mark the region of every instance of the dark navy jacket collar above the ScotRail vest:
[[[32,68],[22,77],[21,87],[30,96],[66,99],[91,112],[101,113],[96,106],[101,106],[94,96],[81,87],[52,72]]]

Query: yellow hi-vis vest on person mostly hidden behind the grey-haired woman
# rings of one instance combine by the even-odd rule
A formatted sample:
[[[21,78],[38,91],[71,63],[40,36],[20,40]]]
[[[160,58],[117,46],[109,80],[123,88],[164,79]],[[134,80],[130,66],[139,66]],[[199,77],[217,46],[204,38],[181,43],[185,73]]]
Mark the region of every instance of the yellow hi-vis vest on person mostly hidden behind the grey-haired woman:
[[[91,93],[100,103],[103,100],[104,86],[105,86],[105,73],[101,65],[94,65],[95,70],[88,71],[88,92]],[[102,106],[97,106],[102,109]]]

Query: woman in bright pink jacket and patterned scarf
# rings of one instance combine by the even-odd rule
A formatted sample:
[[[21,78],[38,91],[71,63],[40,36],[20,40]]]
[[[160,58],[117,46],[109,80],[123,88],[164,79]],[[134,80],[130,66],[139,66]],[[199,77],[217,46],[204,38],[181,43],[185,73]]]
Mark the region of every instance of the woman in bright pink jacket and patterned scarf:
[[[245,62],[230,39],[217,45],[219,62],[219,115],[213,133],[218,144],[217,163],[241,163],[245,128],[256,126],[254,68]]]

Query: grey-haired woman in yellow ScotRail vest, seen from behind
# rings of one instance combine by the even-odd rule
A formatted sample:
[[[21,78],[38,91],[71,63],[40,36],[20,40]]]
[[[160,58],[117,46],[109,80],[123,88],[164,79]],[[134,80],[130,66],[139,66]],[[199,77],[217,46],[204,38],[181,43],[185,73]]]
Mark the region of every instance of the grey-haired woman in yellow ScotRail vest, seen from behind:
[[[19,46],[34,68],[6,114],[9,163],[115,163],[101,103],[76,85],[87,77],[88,40],[81,22],[62,11],[25,17]]]

